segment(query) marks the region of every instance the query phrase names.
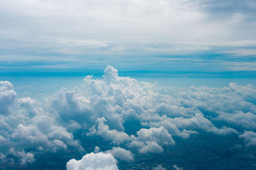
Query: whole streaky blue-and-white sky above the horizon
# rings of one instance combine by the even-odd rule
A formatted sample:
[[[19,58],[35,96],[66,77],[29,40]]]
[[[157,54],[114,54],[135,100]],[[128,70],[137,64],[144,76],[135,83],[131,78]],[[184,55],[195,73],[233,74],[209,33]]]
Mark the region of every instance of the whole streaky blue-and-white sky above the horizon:
[[[0,69],[15,73],[243,72],[255,1],[1,1]]]

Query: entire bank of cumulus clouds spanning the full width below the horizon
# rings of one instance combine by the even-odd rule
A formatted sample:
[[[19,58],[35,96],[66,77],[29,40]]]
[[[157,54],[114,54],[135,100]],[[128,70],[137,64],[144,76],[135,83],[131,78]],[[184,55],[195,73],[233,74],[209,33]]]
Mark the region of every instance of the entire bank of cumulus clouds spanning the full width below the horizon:
[[[12,83],[0,81],[1,159],[16,157],[25,165],[44,153],[102,149],[101,143],[87,145],[95,136],[107,144],[88,157],[102,151],[128,162],[136,159],[137,150],[160,154],[176,139],[201,133],[237,135],[253,146],[255,99],[253,85],[170,89],[118,76],[111,66],[102,78],[86,76],[81,87],[62,88],[42,102],[17,99]],[[82,160],[68,165],[79,167]]]

